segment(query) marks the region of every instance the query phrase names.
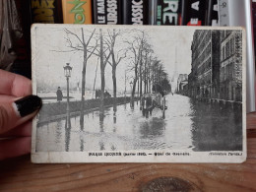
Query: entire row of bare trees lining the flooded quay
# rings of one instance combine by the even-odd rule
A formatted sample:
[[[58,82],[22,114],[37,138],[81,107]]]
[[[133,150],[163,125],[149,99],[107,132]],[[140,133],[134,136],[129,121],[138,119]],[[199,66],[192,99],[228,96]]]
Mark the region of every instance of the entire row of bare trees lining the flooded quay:
[[[106,30],[102,32],[96,29],[93,32],[88,32],[81,28],[81,32],[72,32],[64,29],[67,34],[66,42],[68,50],[65,52],[83,52],[83,68],[82,68],[82,96],[81,96],[81,116],[80,124],[84,129],[84,100],[86,91],[86,76],[87,65],[92,56],[99,59],[100,67],[100,105],[99,114],[103,115],[104,106],[104,89],[105,89],[105,67],[111,66],[112,84],[113,84],[113,99],[114,111],[116,111],[116,71],[117,67],[123,63],[128,64],[126,72],[130,74],[132,84],[131,105],[133,106],[136,88],[138,88],[139,96],[143,93],[151,93],[152,87],[155,84],[162,86],[163,90],[170,91],[168,75],[164,71],[160,60],[154,56],[154,49],[149,43],[146,32],[130,31],[122,32],[120,30]],[[127,34],[129,38],[125,38]],[[124,45],[118,44],[121,42]],[[97,70],[97,66],[96,66]],[[95,81],[96,83],[96,81]],[[137,86],[138,85],[138,86]],[[95,88],[95,85],[94,85]]]

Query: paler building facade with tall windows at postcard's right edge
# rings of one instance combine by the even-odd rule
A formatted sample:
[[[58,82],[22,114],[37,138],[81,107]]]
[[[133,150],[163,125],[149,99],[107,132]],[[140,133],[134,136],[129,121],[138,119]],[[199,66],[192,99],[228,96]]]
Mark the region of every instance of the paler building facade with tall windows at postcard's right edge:
[[[221,32],[221,98],[242,100],[242,32]]]

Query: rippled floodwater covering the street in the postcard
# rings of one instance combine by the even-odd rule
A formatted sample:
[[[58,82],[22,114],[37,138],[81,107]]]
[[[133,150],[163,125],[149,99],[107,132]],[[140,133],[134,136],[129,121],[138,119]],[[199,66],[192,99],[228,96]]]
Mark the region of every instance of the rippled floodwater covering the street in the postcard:
[[[242,150],[241,108],[221,103],[196,101],[188,96],[166,96],[167,110],[162,118],[155,108],[146,118],[140,103],[107,108],[85,114],[84,130],[80,116],[40,125],[36,131],[37,152],[80,152],[117,150]]]

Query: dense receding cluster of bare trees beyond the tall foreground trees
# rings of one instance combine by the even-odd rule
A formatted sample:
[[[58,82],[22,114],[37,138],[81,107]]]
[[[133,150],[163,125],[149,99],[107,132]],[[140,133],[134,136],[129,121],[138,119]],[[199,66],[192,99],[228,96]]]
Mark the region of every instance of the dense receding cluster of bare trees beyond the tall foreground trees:
[[[136,87],[140,97],[143,94],[151,93],[154,85],[160,85],[165,92],[171,92],[168,74],[164,71],[163,64],[155,56],[154,48],[149,43],[147,33],[140,32],[140,35],[134,36],[133,40],[126,41],[126,43],[129,44],[128,49],[131,51],[133,58],[129,68],[134,73],[131,105],[134,104]]]

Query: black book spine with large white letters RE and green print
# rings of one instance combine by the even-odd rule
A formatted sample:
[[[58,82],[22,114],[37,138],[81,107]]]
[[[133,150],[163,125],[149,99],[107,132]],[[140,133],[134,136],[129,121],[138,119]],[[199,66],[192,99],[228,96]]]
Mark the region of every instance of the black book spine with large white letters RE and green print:
[[[180,26],[181,25],[181,1],[180,0],[158,0],[157,2],[158,26]]]

